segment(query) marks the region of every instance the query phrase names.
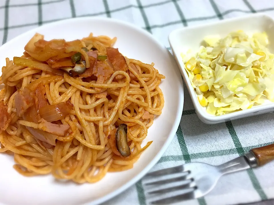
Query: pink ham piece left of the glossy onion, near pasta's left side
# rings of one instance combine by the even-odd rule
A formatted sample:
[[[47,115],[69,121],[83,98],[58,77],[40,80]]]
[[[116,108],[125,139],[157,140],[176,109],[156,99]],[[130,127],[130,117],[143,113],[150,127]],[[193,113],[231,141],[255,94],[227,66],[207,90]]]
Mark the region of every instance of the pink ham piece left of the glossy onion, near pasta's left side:
[[[15,107],[17,110],[17,115],[19,117],[21,117],[30,106],[33,106],[33,97],[34,92],[27,87],[25,87],[23,91],[19,91],[19,93],[15,95]]]

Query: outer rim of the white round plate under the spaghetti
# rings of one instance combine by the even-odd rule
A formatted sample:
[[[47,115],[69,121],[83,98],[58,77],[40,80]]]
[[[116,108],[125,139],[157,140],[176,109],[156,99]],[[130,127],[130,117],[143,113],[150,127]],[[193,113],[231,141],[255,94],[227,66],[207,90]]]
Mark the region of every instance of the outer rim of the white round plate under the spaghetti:
[[[13,41],[16,41],[17,39],[20,39],[21,37],[25,36],[25,35],[29,35],[30,33],[33,32],[38,32],[37,30],[39,30],[39,28],[43,27],[43,28],[47,28],[47,27],[51,27],[51,26],[56,26],[56,25],[60,25],[64,22],[74,22],[74,21],[96,21],[96,20],[100,20],[100,21],[110,21],[112,23],[118,23],[127,27],[130,27],[132,29],[135,29],[139,32],[141,32],[143,35],[145,35],[146,37],[149,37],[151,41],[154,41],[154,43],[158,44],[160,47],[162,47],[163,49],[166,49],[166,53],[167,55],[169,55],[169,58],[173,64],[173,68],[175,70],[175,72],[177,72],[178,75],[181,75],[179,67],[175,61],[174,56],[168,51],[168,49],[164,46],[163,43],[161,43],[160,41],[158,41],[151,33],[149,33],[148,31],[142,29],[141,27],[138,27],[137,25],[134,25],[133,23],[128,23],[126,21],[122,21],[119,19],[114,19],[114,18],[106,18],[106,17],[77,17],[77,18],[68,18],[68,19],[61,19],[59,21],[55,21],[55,22],[51,22],[51,23],[46,23],[44,25],[35,27],[29,31],[26,31],[16,37],[14,37],[13,39],[10,39],[9,41],[7,41],[5,44],[1,45],[0,48],[1,49],[7,49],[7,47],[9,46],[9,44],[11,44]],[[154,158],[148,163],[148,165],[146,167],[143,168],[143,170],[137,174],[136,176],[134,176],[131,180],[129,180],[126,184],[122,185],[120,188],[111,191],[110,193],[106,194],[105,196],[102,196],[98,199],[92,200],[92,201],[88,201],[88,202],[84,202],[83,204],[101,204],[103,202],[106,202],[107,200],[110,200],[111,198],[117,196],[118,194],[122,193],[123,191],[125,191],[127,188],[129,188],[130,186],[133,186],[138,180],[140,180],[147,172],[149,172],[149,170],[160,160],[161,156],[164,154],[164,152],[167,150],[168,146],[170,145],[170,143],[172,142],[176,131],[178,129],[178,127],[180,126],[180,121],[182,118],[182,112],[183,112],[183,107],[184,107],[184,82],[182,78],[179,78],[179,84],[181,84],[182,86],[178,87],[178,94],[179,94],[179,102],[178,102],[178,109],[177,109],[177,114],[176,114],[176,118],[174,120],[174,124],[172,126],[172,129],[168,135],[168,137],[166,138],[162,148],[160,149],[160,151],[154,156]],[[0,204],[2,204],[0,202]]]

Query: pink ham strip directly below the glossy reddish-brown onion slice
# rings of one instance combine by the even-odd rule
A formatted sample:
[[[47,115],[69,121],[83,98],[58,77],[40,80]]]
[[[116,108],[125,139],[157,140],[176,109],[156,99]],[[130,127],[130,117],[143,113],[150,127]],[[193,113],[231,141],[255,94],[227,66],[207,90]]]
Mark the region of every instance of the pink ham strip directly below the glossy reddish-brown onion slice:
[[[52,134],[57,134],[60,136],[64,136],[66,131],[69,129],[68,124],[53,124],[41,118],[39,126],[42,130],[46,132],[50,132]]]

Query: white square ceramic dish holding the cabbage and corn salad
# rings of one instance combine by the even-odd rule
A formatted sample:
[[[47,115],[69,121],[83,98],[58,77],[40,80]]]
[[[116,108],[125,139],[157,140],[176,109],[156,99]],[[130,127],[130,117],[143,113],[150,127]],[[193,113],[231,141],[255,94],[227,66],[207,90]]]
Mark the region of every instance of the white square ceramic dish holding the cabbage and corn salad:
[[[265,31],[269,37],[268,48],[271,53],[274,52],[274,20],[264,14],[253,14],[195,27],[180,28],[172,31],[168,37],[170,47],[174,53],[175,59],[190,93],[196,113],[200,120],[206,124],[216,124],[274,111],[274,103],[265,103],[253,106],[247,110],[214,116],[208,114],[206,109],[198,102],[197,95],[188,79],[188,73],[184,69],[184,63],[180,54],[186,53],[189,49],[193,52],[198,52],[205,36],[220,35],[220,37],[223,38],[229,33],[238,30],[243,30],[248,34]]]

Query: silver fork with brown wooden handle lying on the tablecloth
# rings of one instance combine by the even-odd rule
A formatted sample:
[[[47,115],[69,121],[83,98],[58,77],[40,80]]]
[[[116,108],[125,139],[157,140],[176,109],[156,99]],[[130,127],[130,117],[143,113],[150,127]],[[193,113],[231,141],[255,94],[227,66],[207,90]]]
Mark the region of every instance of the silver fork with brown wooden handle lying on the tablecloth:
[[[213,166],[202,162],[190,162],[184,165],[166,168],[146,174],[143,182],[153,180],[144,184],[144,189],[158,189],[147,192],[154,198],[172,194],[171,197],[153,200],[150,204],[170,204],[182,200],[190,200],[205,196],[210,192],[223,174],[262,166],[274,159],[274,144],[253,148],[243,156],[239,156],[224,164]],[[169,177],[168,179],[166,179]],[[159,178],[164,178],[159,180]],[[168,186],[168,188],[160,188]],[[172,185],[173,184],[173,185]],[[179,184],[179,185],[174,185]],[[180,194],[174,196],[174,193]],[[183,192],[183,193],[181,193]]]

